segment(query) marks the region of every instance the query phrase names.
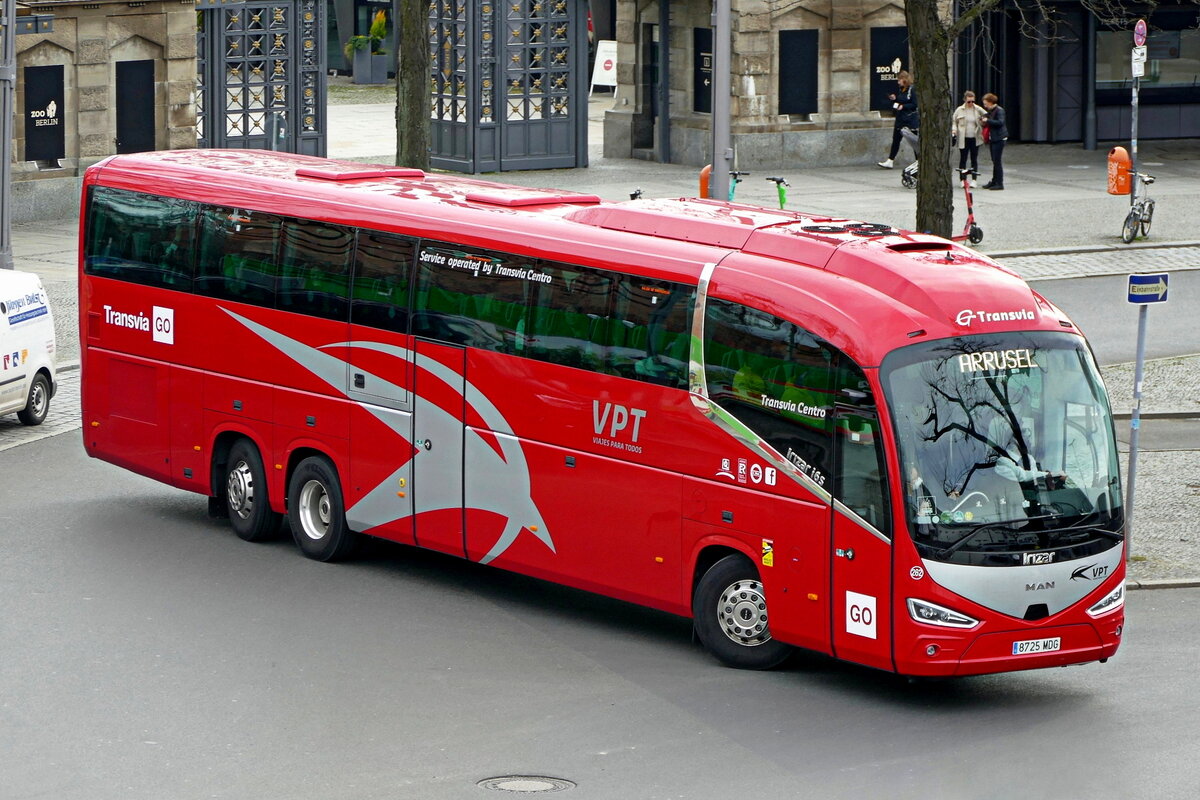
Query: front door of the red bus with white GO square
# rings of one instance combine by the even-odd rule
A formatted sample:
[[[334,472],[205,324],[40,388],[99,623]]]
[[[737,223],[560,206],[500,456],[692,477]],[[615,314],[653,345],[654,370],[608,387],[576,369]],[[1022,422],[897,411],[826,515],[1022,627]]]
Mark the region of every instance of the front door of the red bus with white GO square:
[[[852,366],[839,373],[841,399],[834,408],[833,433],[834,655],[890,670],[892,542],[883,438],[870,389],[865,379],[854,378],[862,373]]]

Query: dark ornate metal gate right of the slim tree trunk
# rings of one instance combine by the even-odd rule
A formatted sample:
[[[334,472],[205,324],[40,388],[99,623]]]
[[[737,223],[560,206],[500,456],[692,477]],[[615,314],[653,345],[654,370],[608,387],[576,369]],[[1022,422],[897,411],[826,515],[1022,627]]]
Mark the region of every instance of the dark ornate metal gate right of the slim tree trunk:
[[[431,162],[586,167],[586,0],[431,0]]]

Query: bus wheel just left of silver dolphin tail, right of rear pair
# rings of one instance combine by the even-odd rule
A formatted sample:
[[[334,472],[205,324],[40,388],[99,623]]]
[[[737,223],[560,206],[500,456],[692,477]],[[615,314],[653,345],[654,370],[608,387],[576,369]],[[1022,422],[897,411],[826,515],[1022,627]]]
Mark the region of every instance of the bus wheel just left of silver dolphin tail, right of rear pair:
[[[305,458],[292,474],[288,522],[300,552],[318,561],[346,558],[360,539],[346,523],[337,471],[319,456]]]

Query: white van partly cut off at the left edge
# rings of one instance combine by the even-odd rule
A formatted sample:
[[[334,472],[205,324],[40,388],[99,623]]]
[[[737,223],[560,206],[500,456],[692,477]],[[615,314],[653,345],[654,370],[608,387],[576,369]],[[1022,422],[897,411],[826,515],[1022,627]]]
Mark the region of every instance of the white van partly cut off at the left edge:
[[[41,425],[58,389],[54,315],[42,279],[0,270],[0,415]]]

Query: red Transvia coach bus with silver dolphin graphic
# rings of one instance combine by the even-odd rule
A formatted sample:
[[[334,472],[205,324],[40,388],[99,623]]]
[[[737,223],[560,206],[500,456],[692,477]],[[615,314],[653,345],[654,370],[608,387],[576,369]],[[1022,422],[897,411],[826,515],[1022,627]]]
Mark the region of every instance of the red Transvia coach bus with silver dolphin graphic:
[[[739,667],[1120,644],[1088,345],[952,242],[193,150],[89,169],[80,253],[89,455],[245,540],[450,553],[691,616]]]

